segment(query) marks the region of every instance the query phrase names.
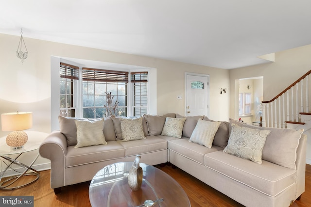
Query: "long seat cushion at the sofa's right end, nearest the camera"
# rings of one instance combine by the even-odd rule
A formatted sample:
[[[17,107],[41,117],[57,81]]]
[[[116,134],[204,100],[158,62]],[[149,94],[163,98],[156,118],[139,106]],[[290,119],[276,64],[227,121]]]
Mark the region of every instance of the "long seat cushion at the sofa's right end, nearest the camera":
[[[272,197],[296,181],[295,170],[265,160],[259,165],[222,151],[206,154],[204,159],[208,168]]]

